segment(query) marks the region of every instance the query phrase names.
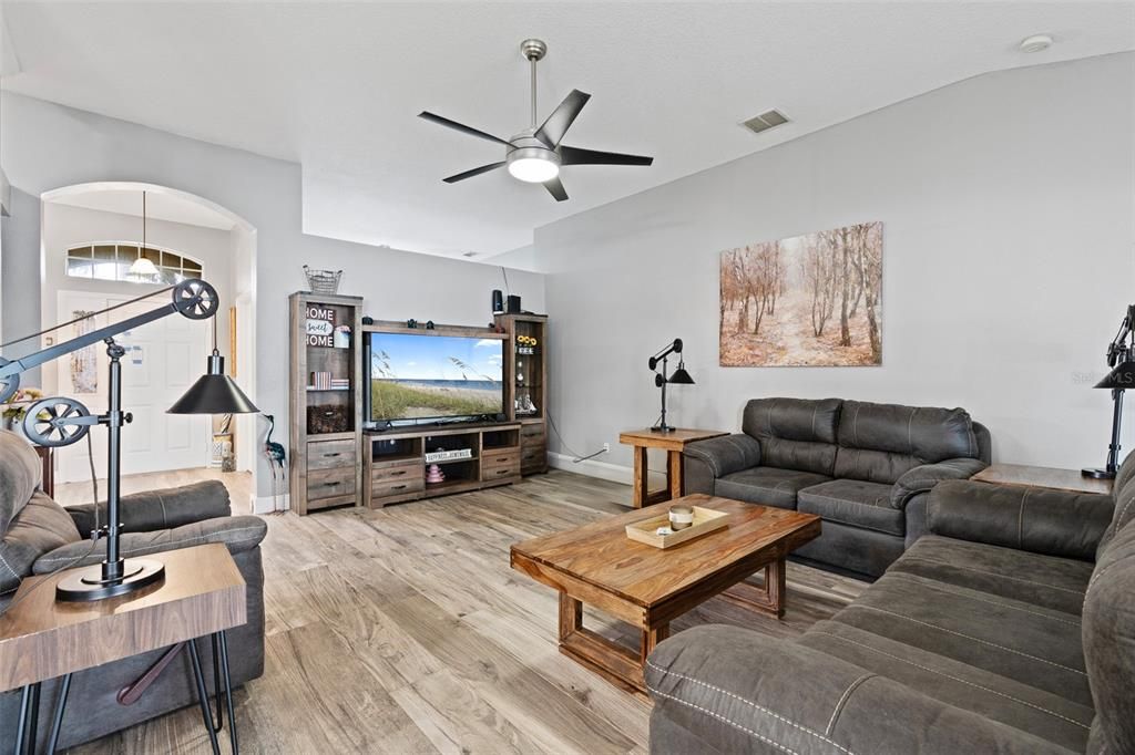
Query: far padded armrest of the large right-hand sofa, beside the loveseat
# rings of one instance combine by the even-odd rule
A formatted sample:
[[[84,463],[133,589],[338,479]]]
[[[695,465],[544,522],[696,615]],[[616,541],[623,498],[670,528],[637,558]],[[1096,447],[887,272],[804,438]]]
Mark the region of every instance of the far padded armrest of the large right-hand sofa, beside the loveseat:
[[[931,491],[926,526],[945,537],[1093,561],[1113,511],[1110,495],[947,481]]]

